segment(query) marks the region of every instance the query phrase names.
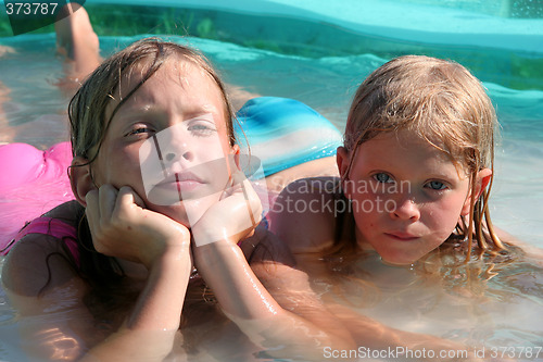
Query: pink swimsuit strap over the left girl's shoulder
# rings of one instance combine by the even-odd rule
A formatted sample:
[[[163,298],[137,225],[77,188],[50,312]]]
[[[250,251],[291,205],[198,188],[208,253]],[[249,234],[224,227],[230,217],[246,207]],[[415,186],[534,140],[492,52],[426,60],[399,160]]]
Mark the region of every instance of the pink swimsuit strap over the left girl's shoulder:
[[[1,252],[8,253],[8,251],[15,244],[15,241],[21,240],[28,234],[50,235],[52,237],[61,239],[72,253],[72,257],[74,258],[77,267],[79,267],[79,250],[76,241],[77,229],[70,224],[53,217],[41,216],[27,223],[18,232],[18,234],[8,244],[8,246],[1,250]]]

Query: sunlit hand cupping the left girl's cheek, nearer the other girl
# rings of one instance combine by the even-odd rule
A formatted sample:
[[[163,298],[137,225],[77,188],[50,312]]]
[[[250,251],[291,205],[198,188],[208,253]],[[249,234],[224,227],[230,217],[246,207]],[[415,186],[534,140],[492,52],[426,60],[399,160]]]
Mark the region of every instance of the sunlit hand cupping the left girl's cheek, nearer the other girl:
[[[195,246],[228,239],[238,242],[249,236],[262,219],[262,203],[241,171],[230,177],[220,200],[192,227]]]

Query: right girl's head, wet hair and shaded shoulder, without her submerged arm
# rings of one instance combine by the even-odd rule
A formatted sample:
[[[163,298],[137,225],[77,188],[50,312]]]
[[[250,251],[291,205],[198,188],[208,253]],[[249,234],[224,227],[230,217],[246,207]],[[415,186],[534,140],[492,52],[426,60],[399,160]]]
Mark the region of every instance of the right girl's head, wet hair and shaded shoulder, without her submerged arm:
[[[500,252],[505,247],[488,208],[496,127],[489,97],[465,67],[428,57],[394,59],[354,97],[337,155],[341,178],[289,186],[272,228],[296,251],[374,249],[401,265],[445,241],[460,242],[467,259],[473,242],[481,253]],[[333,208],[314,204],[318,212],[300,214],[286,203],[323,194]],[[302,225],[295,235],[303,238],[292,223]]]

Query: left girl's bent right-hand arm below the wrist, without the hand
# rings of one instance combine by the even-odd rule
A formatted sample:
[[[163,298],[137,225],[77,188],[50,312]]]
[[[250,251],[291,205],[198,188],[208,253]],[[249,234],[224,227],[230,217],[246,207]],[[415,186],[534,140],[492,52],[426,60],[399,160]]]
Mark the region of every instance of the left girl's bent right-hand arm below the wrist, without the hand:
[[[260,237],[261,232],[254,236]],[[263,252],[276,253],[275,245],[260,242]],[[325,346],[354,347],[349,332],[311,289],[306,274],[278,261],[277,255],[250,266],[240,248],[227,240],[194,248],[193,253],[223,312],[267,354],[321,361]],[[273,282],[278,279],[286,280],[282,289],[274,289]]]

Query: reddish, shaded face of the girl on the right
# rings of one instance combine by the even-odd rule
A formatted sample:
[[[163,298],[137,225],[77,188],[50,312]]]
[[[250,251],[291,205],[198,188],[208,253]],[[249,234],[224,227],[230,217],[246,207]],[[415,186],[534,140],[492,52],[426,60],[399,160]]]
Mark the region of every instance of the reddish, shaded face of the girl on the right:
[[[350,153],[338,150],[345,174]],[[381,134],[358,146],[345,179],[357,242],[383,261],[412,264],[439,247],[469,213],[469,177],[409,132]],[[480,176],[490,175],[490,170]]]

